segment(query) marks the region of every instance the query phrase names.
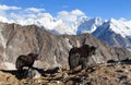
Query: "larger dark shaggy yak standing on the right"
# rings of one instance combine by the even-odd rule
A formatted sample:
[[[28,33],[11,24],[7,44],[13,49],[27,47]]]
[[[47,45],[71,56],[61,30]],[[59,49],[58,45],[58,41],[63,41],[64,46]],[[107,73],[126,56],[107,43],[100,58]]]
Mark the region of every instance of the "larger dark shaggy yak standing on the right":
[[[88,57],[95,54],[96,47],[83,45],[82,47],[73,47],[69,51],[69,66],[70,70],[81,65],[82,70],[87,66]]]

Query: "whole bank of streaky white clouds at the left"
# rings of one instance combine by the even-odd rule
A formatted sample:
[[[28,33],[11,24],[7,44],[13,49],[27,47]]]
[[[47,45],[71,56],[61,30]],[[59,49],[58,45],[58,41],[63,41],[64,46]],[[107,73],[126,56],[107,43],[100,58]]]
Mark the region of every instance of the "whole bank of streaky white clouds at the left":
[[[37,8],[20,8],[20,7],[9,7],[5,4],[0,4],[0,16],[13,21],[26,21],[27,19],[36,20],[39,13],[43,13],[45,9]],[[3,19],[2,19],[3,20]]]

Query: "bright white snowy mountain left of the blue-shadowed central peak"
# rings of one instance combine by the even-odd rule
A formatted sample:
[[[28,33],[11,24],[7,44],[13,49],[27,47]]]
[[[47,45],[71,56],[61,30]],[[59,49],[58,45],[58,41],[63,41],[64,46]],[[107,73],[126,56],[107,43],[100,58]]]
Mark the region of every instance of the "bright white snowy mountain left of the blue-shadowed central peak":
[[[75,29],[72,27],[72,25],[68,25],[62,20],[57,20],[52,16],[44,16],[41,19],[36,19],[36,20],[27,19],[24,22],[19,20],[16,23],[21,25],[35,24],[55,34],[75,35]]]

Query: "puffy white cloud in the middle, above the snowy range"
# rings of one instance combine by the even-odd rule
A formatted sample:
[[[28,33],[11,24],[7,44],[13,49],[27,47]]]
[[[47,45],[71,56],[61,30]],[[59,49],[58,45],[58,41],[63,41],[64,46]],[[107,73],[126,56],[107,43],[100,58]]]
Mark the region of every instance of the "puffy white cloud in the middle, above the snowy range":
[[[78,17],[85,15],[82,11],[80,10],[72,10],[70,12],[68,11],[61,11],[58,13],[57,19],[62,20],[64,23],[72,24],[78,20]]]

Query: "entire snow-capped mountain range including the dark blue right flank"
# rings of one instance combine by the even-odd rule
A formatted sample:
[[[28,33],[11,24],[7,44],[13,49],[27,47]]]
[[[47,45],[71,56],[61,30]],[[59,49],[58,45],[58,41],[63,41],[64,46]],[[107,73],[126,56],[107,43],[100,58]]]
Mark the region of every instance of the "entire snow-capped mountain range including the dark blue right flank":
[[[100,17],[87,17],[83,15],[76,17],[74,22],[67,23],[62,21],[62,19],[52,17],[50,14],[44,14],[43,17],[26,19],[26,21],[9,21],[0,16],[0,22],[16,23],[21,25],[35,24],[57,35],[80,35],[83,33],[91,33],[110,46],[118,46],[131,50],[131,21],[124,19],[110,19],[105,21]]]

